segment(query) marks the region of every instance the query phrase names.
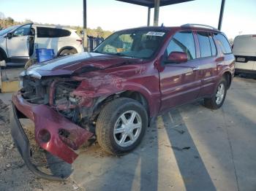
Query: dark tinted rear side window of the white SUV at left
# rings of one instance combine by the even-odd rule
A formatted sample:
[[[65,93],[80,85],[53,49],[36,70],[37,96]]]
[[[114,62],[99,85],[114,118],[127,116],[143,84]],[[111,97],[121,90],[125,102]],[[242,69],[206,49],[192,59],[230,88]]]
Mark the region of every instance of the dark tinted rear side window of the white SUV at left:
[[[59,38],[64,36],[70,36],[70,34],[70,31],[61,28],[37,27],[38,38]]]

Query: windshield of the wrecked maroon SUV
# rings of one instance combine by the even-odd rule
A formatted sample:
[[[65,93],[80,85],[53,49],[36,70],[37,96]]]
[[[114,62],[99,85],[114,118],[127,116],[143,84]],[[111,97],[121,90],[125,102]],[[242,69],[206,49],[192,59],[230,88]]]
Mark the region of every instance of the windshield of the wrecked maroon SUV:
[[[112,34],[94,52],[132,58],[151,58],[165,38],[161,29],[119,31]]]

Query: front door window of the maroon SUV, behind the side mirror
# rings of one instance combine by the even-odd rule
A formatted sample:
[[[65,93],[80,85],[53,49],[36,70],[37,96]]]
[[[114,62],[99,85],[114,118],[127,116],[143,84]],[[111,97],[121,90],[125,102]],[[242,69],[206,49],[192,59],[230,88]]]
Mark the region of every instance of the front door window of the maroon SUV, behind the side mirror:
[[[177,32],[167,47],[167,55],[171,52],[184,52],[187,54],[187,59],[195,59],[195,41],[192,31]]]

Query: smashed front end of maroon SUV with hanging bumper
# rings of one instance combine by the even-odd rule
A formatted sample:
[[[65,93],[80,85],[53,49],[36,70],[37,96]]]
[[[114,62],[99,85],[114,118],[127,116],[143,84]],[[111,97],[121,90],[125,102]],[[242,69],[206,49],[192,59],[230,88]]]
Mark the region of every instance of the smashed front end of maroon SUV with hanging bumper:
[[[70,79],[35,79],[23,77],[23,88],[12,97],[12,137],[30,170],[45,179],[63,179],[40,172],[31,163],[31,149],[20,117],[34,122],[34,137],[42,149],[67,163],[73,163],[75,152],[94,136],[89,113],[94,100],[77,97],[72,92],[80,85]]]

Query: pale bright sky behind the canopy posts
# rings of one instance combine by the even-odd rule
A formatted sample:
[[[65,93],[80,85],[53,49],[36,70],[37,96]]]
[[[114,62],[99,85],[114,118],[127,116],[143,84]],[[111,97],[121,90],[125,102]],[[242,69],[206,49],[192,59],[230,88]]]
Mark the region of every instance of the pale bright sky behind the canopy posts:
[[[195,0],[160,7],[159,25],[200,23],[217,28],[221,0]],[[87,26],[118,31],[146,26],[147,7],[115,0],[87,0]],[[0,12],[17,21],[69,26],[83,25],[83,0],[0,0]],[[151,9],[153,25],[154,9]],[[256,34],[256,0],[226,0],[222,31],[228,38]]]

